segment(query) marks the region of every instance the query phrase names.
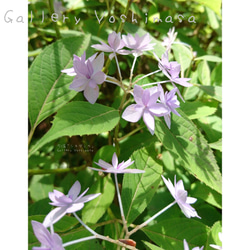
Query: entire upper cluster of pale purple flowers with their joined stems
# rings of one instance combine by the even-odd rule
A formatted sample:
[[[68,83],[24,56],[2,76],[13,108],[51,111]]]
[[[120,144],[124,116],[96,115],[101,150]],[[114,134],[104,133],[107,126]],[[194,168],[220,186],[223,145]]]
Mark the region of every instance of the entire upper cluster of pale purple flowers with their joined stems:
[[[176,111],[176,108],[180,107],[180,102],[177,100],[176,93],[184,101],[180,91],[175,84],[179,84],[183,87],[190,87],[188,81],[190,78],[181,78],[180,71],[181,65],[176,61],[169,61],[168,53],[171,50],[171,45],[176,38],[177,33],[174,33],[174,29],[168,33],[168,38],[163,42],[167,46],[166,52],[162,55],[161,59],[153,52],[156,60],[158,61],[159,70],[151,72],[148,75],[144,75],[139,80],[152,75],[157,72],[162,72],[168,80],[163,82],[152,83],[158,86],[143,89],[143,86],[137,85],[132,82],[133,70],[137,57],[141,56],[144,51],[152,51],[155,43],[152,42],[152,38],[148,33],[143,36],[139,36],[137,33],[121,35],[113,31],[108,36],[108,43],[100,41],[101,44],[95,44],[91,47],[102,51],[98,56],[94,54],[90,58],[86,59],[86,52],[81,57],[74,55],[73,67],[70,69],[62,70],[63,73],[67,73],[70,76],[75,76],[70,89],[84,92],[84,96],[90,103],[94,104],[99,95],[99,86],[104,82],[110,82],[119,86],[124,86],[122,82],[122,75],[117,59],[117,54],[120,55],[134,55],[134,62],[131,68],[130,86],[127,88],[126,94],[131,93],[134,97],[136,104],[132,104],[124,110],[122,118],[129,122],[137,122],[143,118],[149,132],[153,135],[155,129],[154,116],[163,116],[167,126],[171,127],[171,113],[178,116],[180,114]],[[126,47],[126,49],[124,49]],[[109,58],[112,60],[115,58],[120,80],[114,77],[108,76],[102,72],[104,67],[104,53],[109,53]],[[164,93],[162,83],[171,82],[173,89]],[[133,86],[133,89],[131,87]]]

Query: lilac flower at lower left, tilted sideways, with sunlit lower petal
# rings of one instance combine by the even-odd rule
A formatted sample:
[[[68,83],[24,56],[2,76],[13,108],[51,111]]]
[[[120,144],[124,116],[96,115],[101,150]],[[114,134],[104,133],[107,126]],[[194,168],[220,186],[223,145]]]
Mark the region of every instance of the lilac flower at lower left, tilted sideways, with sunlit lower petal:
[[[100,193],[97,193],[84,196],[88,190],[89,188],[87,188],[81,195],[79,195],[81,191],[81,184],[79,181],[76,181],[70,188],[67,195],[57,190],[49,192],[49,198],[52,201],[50,205],[57,206],[57,208],[53,209],[45,217],[43,225],[45,227],[48,227],[51,224],[54,224],[55,222],[60,220],[66,213],[73,213],[82,209],[84,207],[84,203],[91,201],[100,195]]]

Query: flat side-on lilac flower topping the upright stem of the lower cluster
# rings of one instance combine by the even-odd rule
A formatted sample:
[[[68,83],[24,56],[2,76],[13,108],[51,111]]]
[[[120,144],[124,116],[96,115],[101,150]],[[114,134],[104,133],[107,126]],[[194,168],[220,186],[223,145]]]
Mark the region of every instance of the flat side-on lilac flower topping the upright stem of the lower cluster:
[[[103,160],[99,160],[98,163],[95,162],[95,164],[100,166],[103,169],[92,168],[92,167],[89,167],[89,168],[96,170],[96,171],[101,171],[105,173],[113,173],[113,174],[125,174],[125,173],[141,174],[145,172],[144,170],[140,170],[140,169],[126,169],[133,163],[134,161],[131,161],[131,159],[128,159],[125,162],[122,161],[121,163],[118,163],[117,155],[116,153],[114,153],[112,157],[112,164],[109,164]]]

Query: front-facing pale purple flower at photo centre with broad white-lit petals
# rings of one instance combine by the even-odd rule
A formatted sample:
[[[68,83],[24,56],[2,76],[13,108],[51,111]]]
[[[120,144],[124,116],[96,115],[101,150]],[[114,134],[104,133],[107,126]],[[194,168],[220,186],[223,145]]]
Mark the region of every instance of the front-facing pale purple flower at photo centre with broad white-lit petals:
[[[122,118],[129,122],[137,122],[143,117],[149,132],[153,135],[155,129],[154,116],[164,116],[170,111],[162,103],[157,103],[160,91],[157,87],[143,89],[139,85],[134,87],[136,104],[129,105],[123,112]]]

